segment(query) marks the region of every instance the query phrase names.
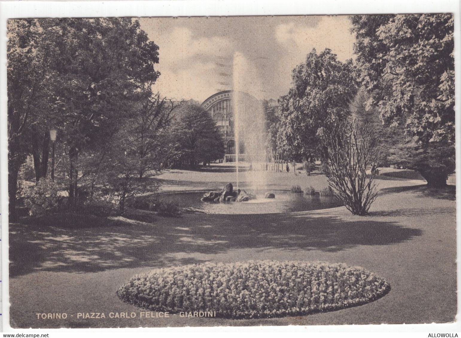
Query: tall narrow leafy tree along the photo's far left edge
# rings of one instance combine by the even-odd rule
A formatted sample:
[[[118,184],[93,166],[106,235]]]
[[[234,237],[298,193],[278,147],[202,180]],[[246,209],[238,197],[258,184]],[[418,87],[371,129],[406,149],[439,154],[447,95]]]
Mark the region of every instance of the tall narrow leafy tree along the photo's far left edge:
[[[55,84],[47,72],[49,58],[40,43],[40,30],[35,19],[8,21],[8,195],[12,219],[15,218],[18,172],[27,155],[35,155],[37,180],[46,173],[37,156],[44,147],[42,155],[47,158],[49,138],[37,140],[36,136],[43,136],[49,123],[47,106]]]

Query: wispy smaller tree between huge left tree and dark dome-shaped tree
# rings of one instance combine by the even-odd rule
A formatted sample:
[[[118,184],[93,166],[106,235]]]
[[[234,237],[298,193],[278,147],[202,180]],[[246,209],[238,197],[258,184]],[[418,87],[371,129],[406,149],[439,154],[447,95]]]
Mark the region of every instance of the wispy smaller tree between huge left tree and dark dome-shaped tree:
[[[158,174],[174,159],[171,109],[171,102],[158,93],[140,101],[130,116],[120,121],[110,148],[83,153],[86,156],[78,162],[79,190],[90,187],[92,196],[98,189],[107,190],[105,198],[111,196],[122,214],[127,198],[155,191],[157,183],[144,175]]]

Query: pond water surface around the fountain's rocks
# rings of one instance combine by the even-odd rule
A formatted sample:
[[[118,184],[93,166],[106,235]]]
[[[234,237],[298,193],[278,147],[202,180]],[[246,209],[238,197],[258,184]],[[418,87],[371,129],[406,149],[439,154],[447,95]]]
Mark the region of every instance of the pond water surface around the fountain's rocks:
[[[266,214],[332,208],[343,203],[334,197],[307,196],[287,190],[256,192],[256,199],[247,202],[209,203],[200,201],[207,191],[166,192],[158,195],[164,202],[177,203],[184,212],[207,214]],[[266,192],[275,194],[274,199],[264,198]]]

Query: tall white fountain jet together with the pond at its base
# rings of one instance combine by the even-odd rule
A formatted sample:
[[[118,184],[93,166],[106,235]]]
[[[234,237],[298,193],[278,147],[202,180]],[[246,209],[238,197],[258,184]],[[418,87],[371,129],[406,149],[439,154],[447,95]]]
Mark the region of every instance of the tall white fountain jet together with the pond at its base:
[[[283,213],[340,205],[331,197],[294,194],[281,189],[267,191],[266,119],[262,103],[255,98],[260,96],[257,92],[261,86],[254,69],[256,67],[242,53],[234,53],[232,106],[236,189],[232,183],[227,183],[224,188],[213,191],[172,193],[172,198],[188,212],[208,214]]]

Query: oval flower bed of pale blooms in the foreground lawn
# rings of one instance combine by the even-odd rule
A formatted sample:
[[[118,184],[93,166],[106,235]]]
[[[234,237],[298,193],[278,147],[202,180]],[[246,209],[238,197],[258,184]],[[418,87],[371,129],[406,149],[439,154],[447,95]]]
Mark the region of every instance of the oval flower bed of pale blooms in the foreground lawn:
[[[121,286],[124,302],[144,309],[216,311],[225,318],[308,315],[369,303],[390,290],[361,267],[296,261],[203,263],[155,269]]]

